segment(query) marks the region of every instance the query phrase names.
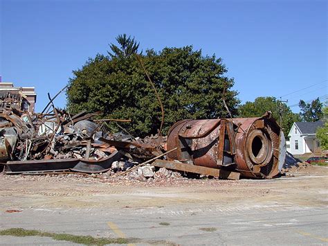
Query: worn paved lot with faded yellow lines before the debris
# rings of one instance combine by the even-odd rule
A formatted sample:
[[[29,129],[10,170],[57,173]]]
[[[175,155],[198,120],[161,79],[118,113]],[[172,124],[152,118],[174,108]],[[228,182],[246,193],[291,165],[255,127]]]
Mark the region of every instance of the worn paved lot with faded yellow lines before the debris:
[[[0,227],[137,238],[129,245],[325,245],[327,181],[325,167],[271,180],[164,187],[2,175]],[[0,241],[73,244],[39,236]]]

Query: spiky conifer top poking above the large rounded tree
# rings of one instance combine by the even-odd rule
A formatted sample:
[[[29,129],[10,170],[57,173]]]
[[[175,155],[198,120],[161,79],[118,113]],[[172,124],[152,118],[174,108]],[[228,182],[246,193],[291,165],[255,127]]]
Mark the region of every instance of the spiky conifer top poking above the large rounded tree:
[[[137,44],[136,40],[134,40],[134,37],[127,37],[126,34],[118,35],[118,37],[116,37],[116,41],[120,47],[111,43],[109,47],[111,48],[112,53],[107,51],[111,58],[127,58],[128,56],[138,52],[139,43]]]

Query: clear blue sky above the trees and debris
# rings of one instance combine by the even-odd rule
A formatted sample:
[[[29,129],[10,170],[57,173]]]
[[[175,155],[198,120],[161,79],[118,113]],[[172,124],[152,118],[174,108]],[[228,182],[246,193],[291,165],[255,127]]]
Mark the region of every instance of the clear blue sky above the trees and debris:
[[[37,111],[122,33],[143,50],[193,45],[215,53],[242,103],[288,94],[282,99],[298,112],[300,99],[327,98],[327,1],[0,2],[2,81],[35,86]],[[55,100],[65,103],[64,94]]]

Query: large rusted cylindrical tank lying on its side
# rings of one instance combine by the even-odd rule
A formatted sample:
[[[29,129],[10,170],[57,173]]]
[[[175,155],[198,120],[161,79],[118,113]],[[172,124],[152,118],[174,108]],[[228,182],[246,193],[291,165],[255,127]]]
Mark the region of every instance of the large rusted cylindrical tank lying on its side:
[[[286,154],[284,134],[270,113],[260,118],[179,121],[167,136],[167,150],[176,147],[167,159],[255,178],[277,175]]]

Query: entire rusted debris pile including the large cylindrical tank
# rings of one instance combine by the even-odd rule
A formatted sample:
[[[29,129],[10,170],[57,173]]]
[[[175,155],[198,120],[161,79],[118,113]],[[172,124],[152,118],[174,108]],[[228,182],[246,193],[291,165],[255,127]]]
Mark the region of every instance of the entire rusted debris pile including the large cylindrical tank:
[[[55,108],[52,100],[46,108],[35,114],[1,107],[4,173],[115,171],[125,175],[167,168],[225,179],[271,178],[284,163],[284,134],[270,113],[259,118],[184,120],[172,126],[167,138],[134,139],[109,134],[101,120],[92,119],[98,113],[71,116]],[[122,163],[125,168],[115,168]]]

